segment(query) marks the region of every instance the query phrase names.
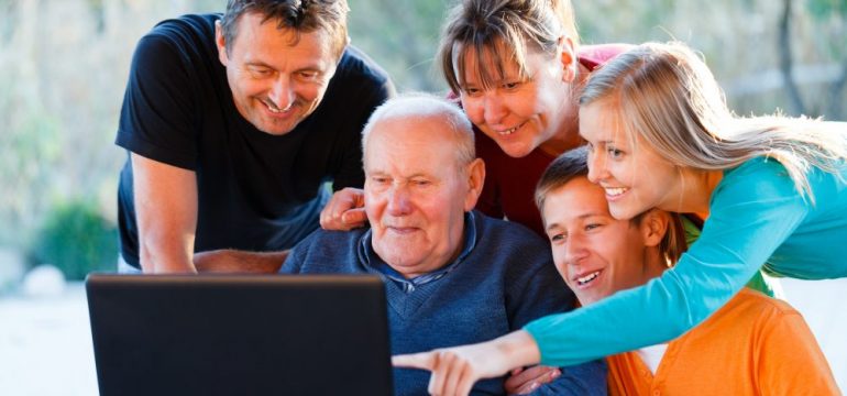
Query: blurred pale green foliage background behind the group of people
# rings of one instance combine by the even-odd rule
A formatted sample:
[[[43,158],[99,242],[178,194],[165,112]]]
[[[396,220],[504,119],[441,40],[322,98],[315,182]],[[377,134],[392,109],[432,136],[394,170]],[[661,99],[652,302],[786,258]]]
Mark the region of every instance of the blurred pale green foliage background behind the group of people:
[[[350,35],[399,90],[443,91],[454,0],[349,0]],[[847,118],[847,0],[573,0],[583,44],[681,40],[739,114]],[[0,0],[0,248],[70,278],[117,257],[113,145],[136,41],[226,0]],[[3,263],[0,263],[3,265]]]

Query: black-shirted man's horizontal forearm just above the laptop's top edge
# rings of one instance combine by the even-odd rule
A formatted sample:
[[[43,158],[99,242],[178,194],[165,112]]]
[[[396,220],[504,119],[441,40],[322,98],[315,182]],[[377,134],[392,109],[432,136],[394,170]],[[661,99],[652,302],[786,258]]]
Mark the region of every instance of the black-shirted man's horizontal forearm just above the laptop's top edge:
[[[217,250],[195,254],[194,264],[200,273],[275,274],[279,272],[288,252]]]

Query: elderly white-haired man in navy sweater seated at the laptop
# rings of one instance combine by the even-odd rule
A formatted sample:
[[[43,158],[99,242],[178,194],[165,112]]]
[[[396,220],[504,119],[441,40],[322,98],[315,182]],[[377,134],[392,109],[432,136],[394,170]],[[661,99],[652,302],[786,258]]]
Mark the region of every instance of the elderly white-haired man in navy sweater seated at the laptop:
[[[471,211],[485,167],[458,107],[430,96],[389,100],[371,117],[362,145],[371,228],[318,230],[282,272],[383,276],[393,353],[490,340],[573,306],[543,240]],[[552,373],[534,391],[605,393],[602,363]],[[395,370],[396,394],[424,394],[428,377]],[[482,381],[474,392],[503,394],[503,381]]]

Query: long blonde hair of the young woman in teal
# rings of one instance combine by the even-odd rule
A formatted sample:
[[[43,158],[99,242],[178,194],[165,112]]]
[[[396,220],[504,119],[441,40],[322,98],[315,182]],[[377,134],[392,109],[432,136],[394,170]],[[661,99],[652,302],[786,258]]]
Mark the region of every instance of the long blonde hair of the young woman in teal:
[[[603,100],[625,131],[682,166],[736,167],[755,157],[782,164],[801,195],[814,202],[812,166],[836,173],[847,158],[847,133],[836,124],[780,114],[738,118],[706,64],[685,44],[647,43],[594,72],[580,105]]]

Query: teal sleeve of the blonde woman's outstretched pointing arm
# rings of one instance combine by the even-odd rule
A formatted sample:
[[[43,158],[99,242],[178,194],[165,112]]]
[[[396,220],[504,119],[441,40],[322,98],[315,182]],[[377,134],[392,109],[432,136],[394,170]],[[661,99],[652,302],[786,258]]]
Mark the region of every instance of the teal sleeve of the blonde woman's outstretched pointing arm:
[[[646,285],[536,320],[548,365],[573,365],[674,339],[729,300],[784,243],[809,206],[784,167],[752,160],[727,173],[703,233],[675,267]]]

